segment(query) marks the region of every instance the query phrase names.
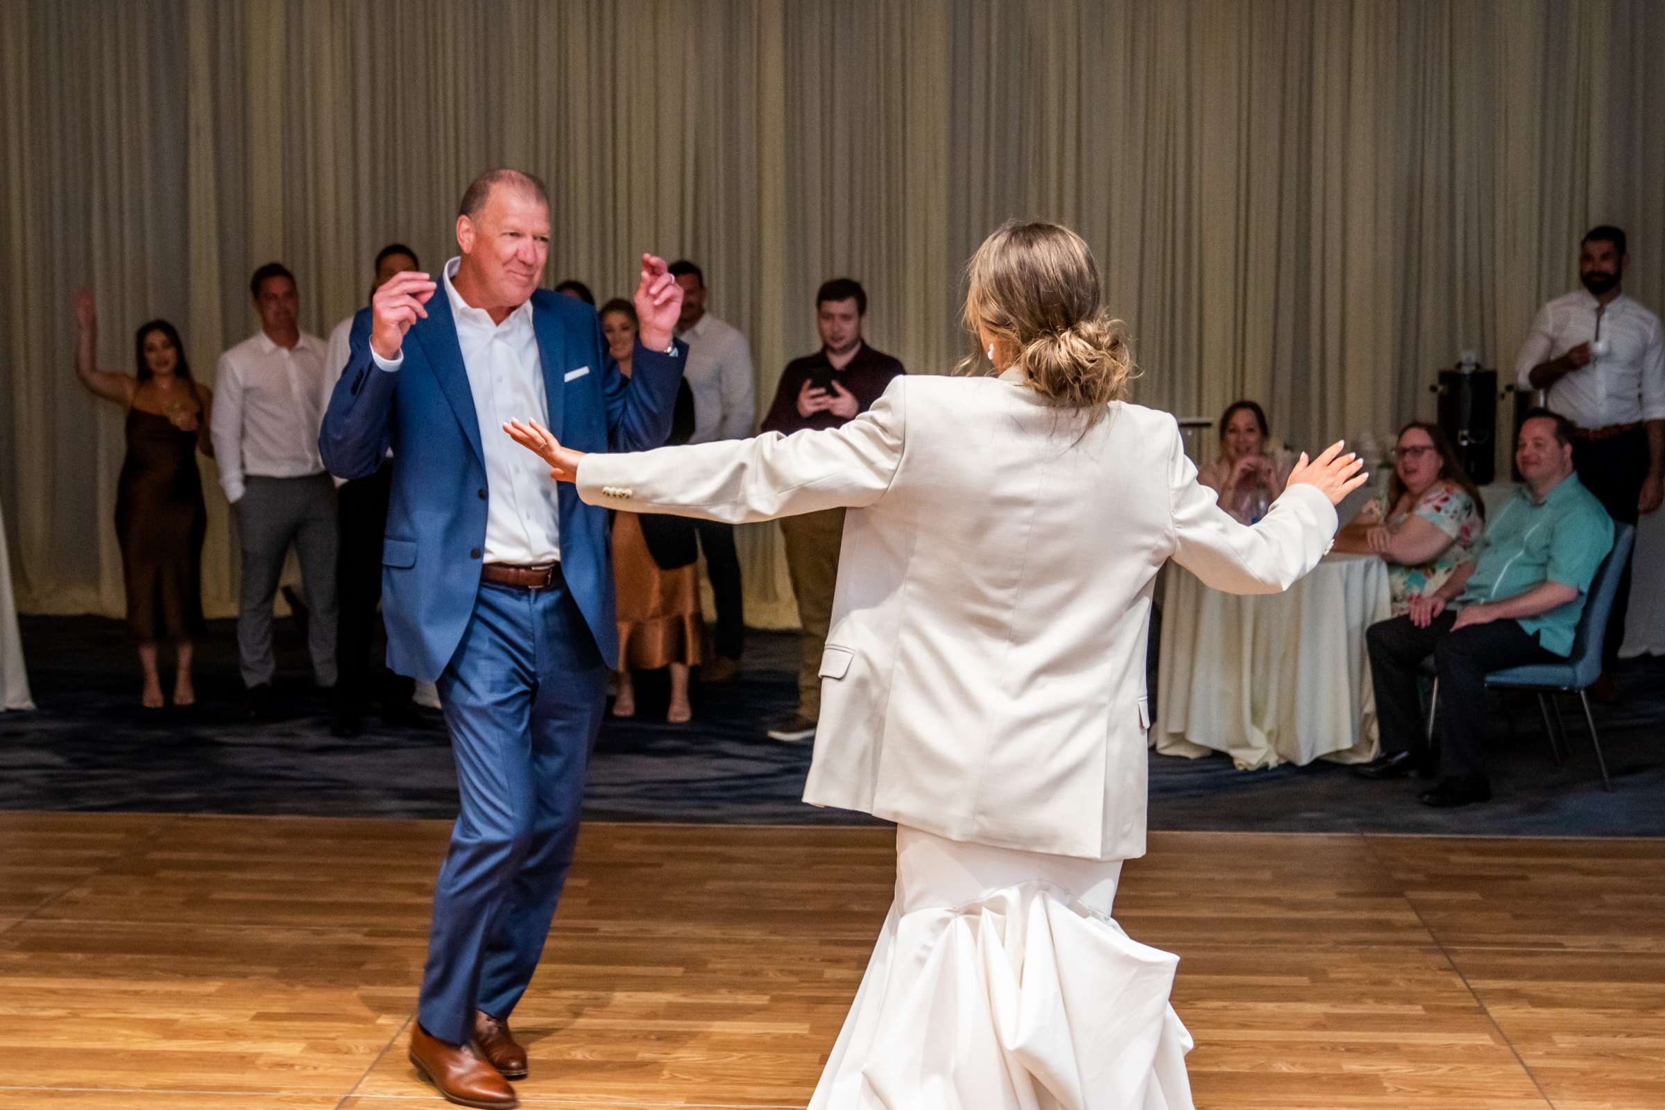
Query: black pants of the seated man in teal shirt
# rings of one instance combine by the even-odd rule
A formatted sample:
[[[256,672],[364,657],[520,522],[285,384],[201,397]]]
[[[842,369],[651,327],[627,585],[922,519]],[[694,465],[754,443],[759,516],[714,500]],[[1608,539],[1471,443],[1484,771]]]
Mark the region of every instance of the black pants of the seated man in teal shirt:
[[[1434,656],[1440,676],[1440,774],[1485,776],[1480,741],[1485,739],[1485,676],[1527,662],[1565,662],[1538,647],[1518,621],[1492,621],[1452,631],[1457,614],[1442,612],[1419,629],[1410,617],[1372,624],[1365,632],[1370,679],[1375,684],[1375,719],[1382,729],[1382,754],[1420,752],[1425,724],[1417,696],[1417,671]]]

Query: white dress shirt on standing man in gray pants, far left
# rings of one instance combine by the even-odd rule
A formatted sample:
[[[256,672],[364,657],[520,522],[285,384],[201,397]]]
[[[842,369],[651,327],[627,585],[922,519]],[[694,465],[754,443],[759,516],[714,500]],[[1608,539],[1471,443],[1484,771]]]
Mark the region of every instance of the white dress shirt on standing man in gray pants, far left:
[[[318,456],[323,368],[323,339],[306,333],[285,348],[261,331],[220,356],[208,431],[220,488],[231,504],[243,499],[243,479],[250,474],[306,478],[323,471]]]

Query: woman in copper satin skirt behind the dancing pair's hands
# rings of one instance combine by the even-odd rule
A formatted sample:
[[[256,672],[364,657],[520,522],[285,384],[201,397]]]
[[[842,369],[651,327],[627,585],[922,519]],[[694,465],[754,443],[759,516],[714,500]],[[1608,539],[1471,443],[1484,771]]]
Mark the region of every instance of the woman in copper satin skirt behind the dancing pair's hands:
[[[601,306],[608,351],[629,376],[636,346],[636,308],[626,300]],[[676,393],[669,443],[686,443],[694,431],[694,398],[684,381]],[[666,721],[693,719],[688,667],[699,662],[704,619],[699,616],[699,576],[694,569],[693,523],[676,516],[613,514],[613,581],[618,594],[619,672],[614,717],[636,716],[631,671],[671,669],[671,707]]]

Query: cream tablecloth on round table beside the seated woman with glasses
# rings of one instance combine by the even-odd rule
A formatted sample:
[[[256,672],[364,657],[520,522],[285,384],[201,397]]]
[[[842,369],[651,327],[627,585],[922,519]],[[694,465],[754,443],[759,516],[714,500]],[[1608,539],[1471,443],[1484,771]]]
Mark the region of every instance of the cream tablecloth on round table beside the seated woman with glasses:
[[[1252,597],[1169,566],[1151,746],[1189,759],[1225,752],[1240,771],[1375,759],[1364,631],[1389,607],[1375,556],[1329,556],[1287,592]]]

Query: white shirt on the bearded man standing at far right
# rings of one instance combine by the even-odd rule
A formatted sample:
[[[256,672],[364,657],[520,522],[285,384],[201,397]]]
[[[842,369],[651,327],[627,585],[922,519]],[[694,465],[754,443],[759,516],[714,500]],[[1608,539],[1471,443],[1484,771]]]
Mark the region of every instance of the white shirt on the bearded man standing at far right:
[[[1588,290],[1557,296],[1538,310],[1515,361],[1515,381],[1532,388],[1532,368],[1560,358],[1595,334],[1600,301]],[[1550,386],[1545,404],[1580,428],[1665,419],[1665,344],[1660,318],[1620,293],[1602,310],[1602,339],[1612,344],[1588,366]]]

